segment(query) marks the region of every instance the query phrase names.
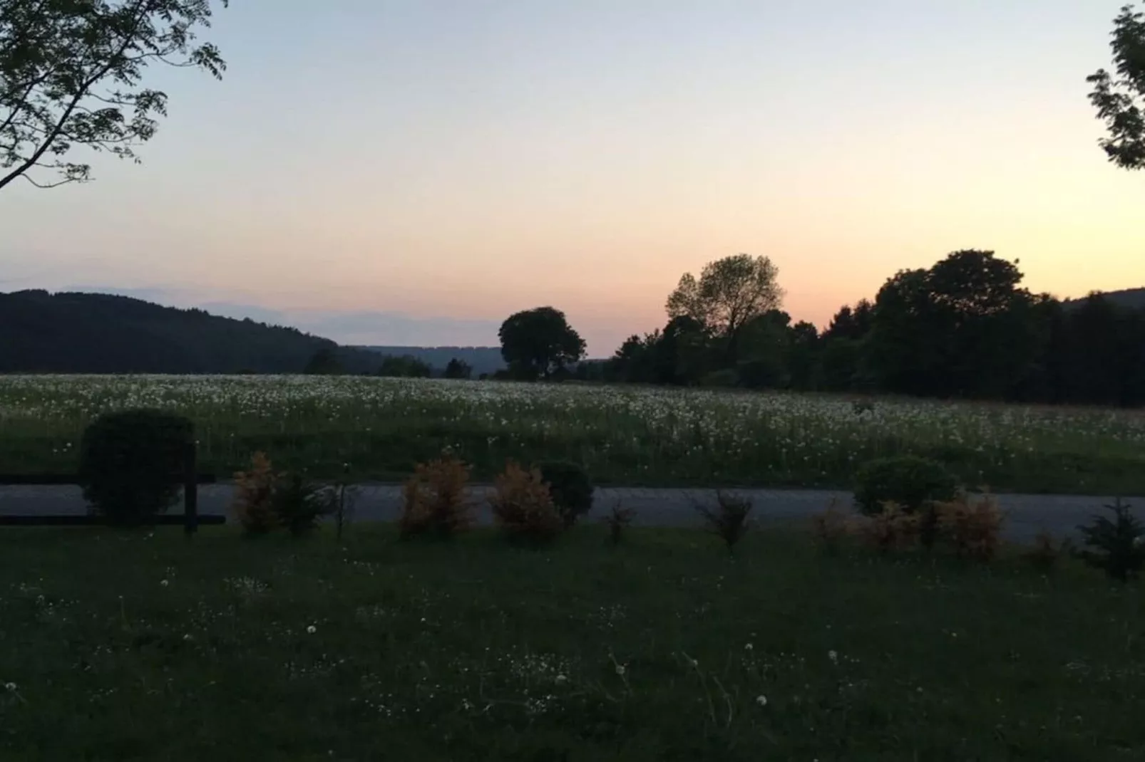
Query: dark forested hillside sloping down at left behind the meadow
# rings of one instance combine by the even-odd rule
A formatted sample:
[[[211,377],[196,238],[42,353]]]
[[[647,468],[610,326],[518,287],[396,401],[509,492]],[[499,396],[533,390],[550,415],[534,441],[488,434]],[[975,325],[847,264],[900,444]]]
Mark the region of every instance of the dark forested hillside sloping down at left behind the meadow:
[[[377,371],[377,355],[251,319],[109,294],[0,294],[0,372],[300,373],[322,348],[347,371]]]

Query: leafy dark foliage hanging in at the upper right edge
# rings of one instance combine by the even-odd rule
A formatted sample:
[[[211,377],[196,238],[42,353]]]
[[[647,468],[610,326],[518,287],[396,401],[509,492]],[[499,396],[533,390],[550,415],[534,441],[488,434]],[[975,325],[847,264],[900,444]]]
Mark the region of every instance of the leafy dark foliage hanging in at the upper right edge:
[[[1126,169],[1145,167],[1145,14],[1122,6],[1113,21],[1113,69],[1099,69],[1087,81],[1089,100],[1105,121],[1108,136],[1099,145],[1111,161]]]

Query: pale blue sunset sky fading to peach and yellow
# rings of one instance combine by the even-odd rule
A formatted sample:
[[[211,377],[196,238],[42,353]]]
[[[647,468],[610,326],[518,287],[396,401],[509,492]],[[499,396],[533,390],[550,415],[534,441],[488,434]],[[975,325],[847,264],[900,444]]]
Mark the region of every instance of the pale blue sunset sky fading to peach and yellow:
[[[0,190],[0,289],[376,344],[551,304],[607,356],[741,252],[820,326],[962,248],[1145,286],[1145,173],[1087,100],[1122,1],[235,0],[221,82],[149,70],[142,165]]]

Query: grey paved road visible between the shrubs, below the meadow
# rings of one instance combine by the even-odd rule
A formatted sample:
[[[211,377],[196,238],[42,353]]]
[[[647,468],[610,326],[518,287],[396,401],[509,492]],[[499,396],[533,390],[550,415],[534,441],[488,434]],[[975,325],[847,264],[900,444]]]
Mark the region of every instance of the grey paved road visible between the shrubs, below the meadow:
[[[393,484],[363,484],[357,487],[354,521],[393,521],[402,505],[402,489]],[[484,505],[482,491],[476,487],[473,498]],[[758,519],[807,519],[827,508],[832,499],[840,508],[848,508],[851,493],[830,490],[728,490],[751,499],[752,515]],[[199,487],[199,511],[227,514],[234,487],[229,484],[208,484]],[[1095,513],[1108,513],[1101,506],[1113,498],[1079,495],[997,495],[1006,514],[1005,535],[1014,541],[1028,541],[1045,530],[1056,537],[1075,537],[1076,526],[1088,523]],[[679,489],[598,489],[593,516],[607,514],[619,501],[637,511],[634,524],[655,526],[693,526],[700,523],[696,503],[714,505],[714,490]],[[1145,498],[1128,498],[1138,516],[1145,518]],[[0,486],[0,514],[82,514],[87,510],[79,487],[74,486]],[[175,508],[173,510],[179,510]],[[488,521],[488,511],[480,515]]]

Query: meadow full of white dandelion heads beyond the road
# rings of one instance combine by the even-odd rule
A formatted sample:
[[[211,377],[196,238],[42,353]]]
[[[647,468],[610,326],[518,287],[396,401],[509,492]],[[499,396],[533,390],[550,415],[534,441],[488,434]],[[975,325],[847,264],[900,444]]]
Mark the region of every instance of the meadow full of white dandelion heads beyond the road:
[[[450,447],[479,477],[568,459],[601,483],[844,486],[867,459],[915,453],[996,491],[1145,492],[1140,412],[358,376],[0,376],[0,471],[72,470],[87,422],[135,406],[194,419],[222,476],[263,450],[392,479]]]

